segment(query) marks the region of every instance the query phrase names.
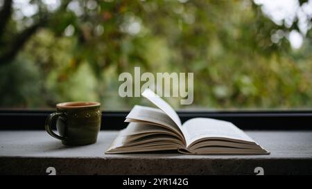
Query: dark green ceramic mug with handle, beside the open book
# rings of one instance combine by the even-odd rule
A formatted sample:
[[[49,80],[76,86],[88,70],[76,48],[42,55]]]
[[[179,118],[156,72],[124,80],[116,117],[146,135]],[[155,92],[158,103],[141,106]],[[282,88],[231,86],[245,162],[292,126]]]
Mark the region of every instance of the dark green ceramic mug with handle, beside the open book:
[[[46,132],[58,138],[64,145],[88,145],[96,143],[101,128],[99,102],[62,102],[56,112],[46,118]],[[58,129],[55,134],[51,127]]]

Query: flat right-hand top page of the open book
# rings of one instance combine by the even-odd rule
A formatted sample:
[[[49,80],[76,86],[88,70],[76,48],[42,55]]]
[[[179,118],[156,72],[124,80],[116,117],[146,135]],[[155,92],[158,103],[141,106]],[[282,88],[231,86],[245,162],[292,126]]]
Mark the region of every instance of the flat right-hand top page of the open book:
[[[211,118],[193,118],[182,126],[187,146],[201,138],[230,138],[254,142],[241,129],[230,122]]]

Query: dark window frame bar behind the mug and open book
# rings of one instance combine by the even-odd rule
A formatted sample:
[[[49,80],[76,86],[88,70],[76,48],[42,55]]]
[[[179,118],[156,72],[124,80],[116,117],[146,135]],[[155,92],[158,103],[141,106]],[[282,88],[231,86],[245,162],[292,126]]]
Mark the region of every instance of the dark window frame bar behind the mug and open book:
[[[43,130],[49,110],[0,110],[0,130]],[[119,130],[129,111],[102,111],[102,130]],[[177,111],[182,123],[196,117],[216,118],[250,130],[311,130],[312,111]]]

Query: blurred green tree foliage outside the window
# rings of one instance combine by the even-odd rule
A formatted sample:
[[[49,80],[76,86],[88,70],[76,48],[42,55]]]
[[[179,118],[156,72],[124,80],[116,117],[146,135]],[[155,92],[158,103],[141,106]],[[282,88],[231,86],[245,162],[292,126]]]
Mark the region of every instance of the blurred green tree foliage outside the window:
[[[194,73],[176,108],[311,109],[311,18],[311,0],[0,0],[0,107],[130,109],[118,76],[141,66]]]

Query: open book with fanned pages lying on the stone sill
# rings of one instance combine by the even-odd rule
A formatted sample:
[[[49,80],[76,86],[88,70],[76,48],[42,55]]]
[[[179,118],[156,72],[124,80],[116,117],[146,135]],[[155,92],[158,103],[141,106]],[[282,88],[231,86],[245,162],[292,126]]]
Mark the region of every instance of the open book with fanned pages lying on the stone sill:
[[[162,98],[146,89],[142,96],[157,108],[136,105],[106,154],[177,150],[184,154],[269,154],[230,122],[193,118],[181,123]]]

